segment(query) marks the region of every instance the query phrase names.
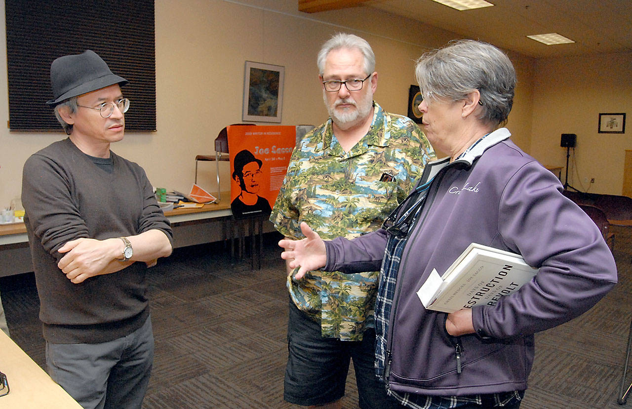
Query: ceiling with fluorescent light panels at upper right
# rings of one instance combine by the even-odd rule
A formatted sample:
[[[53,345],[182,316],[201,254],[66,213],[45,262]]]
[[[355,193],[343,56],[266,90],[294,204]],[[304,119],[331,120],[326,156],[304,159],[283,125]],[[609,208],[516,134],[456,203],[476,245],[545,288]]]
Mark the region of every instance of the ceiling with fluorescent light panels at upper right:
[[[368,0],[368,7],[443,28],[533,58],[632,51],[632,0],[488,0],[458,11],[432,0]],[[557,32],[575,42],[545,46],[526,38]]]

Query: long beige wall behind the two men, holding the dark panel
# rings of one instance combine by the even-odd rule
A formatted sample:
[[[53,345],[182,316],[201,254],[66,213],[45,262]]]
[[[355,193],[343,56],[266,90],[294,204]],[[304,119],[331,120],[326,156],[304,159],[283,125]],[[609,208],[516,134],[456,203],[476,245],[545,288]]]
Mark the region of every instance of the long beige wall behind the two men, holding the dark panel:
[[[0,4],[4,15],[4,2]],[[365,9],[305,15],[296,11],[296,0],[156,0],[155,28],[157,131],[128,133],[112,150],[141,164],[154,186],[186,192],[193,183],[195,155],[212,153],[221,128],[241,122],[244,61],[285,67],[281,125],[318,125],[327,113],[315,58],[322,43],[335,32],[353,32],[372,44],[379,72],[375,99],[387,111],[401,114],[406,114],[408,87],[415,83],[413,61],[423,51],[457,37]],[[0,58],[6,59],[4,31],[3,22]],[[537,92],[532,78],[534,62],[510,56],[519,85],[509,128],[518,145],[529,150],[532,101]],[[5,64],[0,64],[0,78],[6,78]],[[6,123],[5,81],[0,81],[0,95],[5,95],[0,99],[0,123]],[[61,132],[0,129],[0,207],[20,195],[21,168],[27,157],[64,136]],[[214,164],[202,163],[200,168],[200,185],[215,190]],[[222,186],[228,188],[225,162],[221,177]]]

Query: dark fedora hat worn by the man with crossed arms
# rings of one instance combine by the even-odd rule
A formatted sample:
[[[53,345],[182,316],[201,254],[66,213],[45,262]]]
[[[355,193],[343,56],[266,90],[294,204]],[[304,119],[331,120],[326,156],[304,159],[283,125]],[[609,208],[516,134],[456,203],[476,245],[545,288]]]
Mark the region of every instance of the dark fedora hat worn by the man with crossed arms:
[[[112,74],[106,62],[96,52],[86,50],[55,59],[51,64],[51,85],[54,99],[47,104],[56,105],[68,98],[87,94],[110,85],[121,86],[128,81]]]

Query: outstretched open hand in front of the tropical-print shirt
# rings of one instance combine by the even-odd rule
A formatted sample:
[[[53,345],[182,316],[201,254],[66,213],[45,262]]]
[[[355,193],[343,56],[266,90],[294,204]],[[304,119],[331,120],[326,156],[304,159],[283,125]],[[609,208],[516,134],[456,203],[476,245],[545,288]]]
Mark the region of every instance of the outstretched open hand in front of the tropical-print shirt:
[[[288,267],[295,269],[300,267],[295,275],[295,279],[301,279],[305,273],[324,267],[327,263],[327,252],[325,242],[318,233],[313,231],[307,223],[301,223],[301,231],[305,238],[303,240],[281,240],[279,246],[285,250],[281,253],[281,259],[289,260]]]

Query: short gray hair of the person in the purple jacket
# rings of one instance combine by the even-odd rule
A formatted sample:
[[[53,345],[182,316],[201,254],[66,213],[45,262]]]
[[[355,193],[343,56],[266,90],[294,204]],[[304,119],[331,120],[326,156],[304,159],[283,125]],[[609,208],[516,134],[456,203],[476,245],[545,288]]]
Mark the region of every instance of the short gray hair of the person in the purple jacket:
[[[480,92],[483,113],[478,119],[497,126],[513,105],[516,71],[504,52],[486,42],[459,40],[423,54],[415,76],[424,98],[461,101]]]

